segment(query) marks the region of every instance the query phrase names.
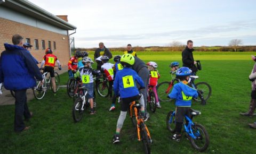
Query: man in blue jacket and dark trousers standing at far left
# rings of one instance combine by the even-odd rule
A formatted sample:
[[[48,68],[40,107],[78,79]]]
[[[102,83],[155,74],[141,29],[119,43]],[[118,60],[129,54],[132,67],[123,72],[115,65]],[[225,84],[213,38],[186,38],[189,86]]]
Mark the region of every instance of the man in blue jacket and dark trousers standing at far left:
[[[15,92],[14,131],[21,132],[29,129],[23,122],[23,116],[26,120],[31,117],[26,91],[35,87],[35,77],[43,82],[43,76],[32,55],[22,47],[23,38],[14,35],[12,42],[13,45],[4,44],[6,50],[0,57],[0,83],[4,82],[5,89]]]

